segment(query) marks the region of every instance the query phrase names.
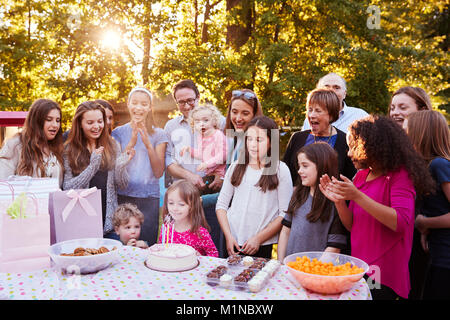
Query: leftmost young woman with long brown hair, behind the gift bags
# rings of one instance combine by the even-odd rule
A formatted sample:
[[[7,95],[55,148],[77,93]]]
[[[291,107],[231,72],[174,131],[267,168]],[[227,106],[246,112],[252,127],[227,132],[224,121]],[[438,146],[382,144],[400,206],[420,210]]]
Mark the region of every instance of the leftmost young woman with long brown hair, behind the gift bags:
[[[58,178],[62,184],[61,108],[49,99],[33,102],[22,132],[0,150],[0,178],[11,175]]]

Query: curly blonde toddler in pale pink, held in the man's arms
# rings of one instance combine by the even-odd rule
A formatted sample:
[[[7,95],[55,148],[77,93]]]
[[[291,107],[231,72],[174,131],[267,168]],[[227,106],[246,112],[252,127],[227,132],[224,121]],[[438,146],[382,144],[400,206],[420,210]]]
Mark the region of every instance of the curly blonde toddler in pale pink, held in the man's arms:
[[[201,160],[197,171],[205,172],[206,184],[223,179],[225,176],[227,140],[223,132],[219,130],[220,117],[220,111],[211,104],[192,109],[189,113],[189,122],[197,133],[197,148],[187,146],[180,151],[180,156],[188,152],[192,158]],[[203,192],[205,193],[211,192]]]

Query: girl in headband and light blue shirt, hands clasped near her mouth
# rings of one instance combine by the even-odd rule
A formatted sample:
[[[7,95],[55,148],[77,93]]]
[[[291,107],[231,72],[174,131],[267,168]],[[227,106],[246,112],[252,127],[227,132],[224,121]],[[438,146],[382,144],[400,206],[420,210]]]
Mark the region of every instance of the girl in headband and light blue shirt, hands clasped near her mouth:
[[[158,237],[159,178],[164,173],[168,139],[162,129],[153,125],[152,95],[146,88],[131,90],[127,107],[131,121],[112,131],[122,150],[135,152],[127,166],[128,186],[117,191],[118,201],[133,203],[144,213],[141,238],[151,246]]]

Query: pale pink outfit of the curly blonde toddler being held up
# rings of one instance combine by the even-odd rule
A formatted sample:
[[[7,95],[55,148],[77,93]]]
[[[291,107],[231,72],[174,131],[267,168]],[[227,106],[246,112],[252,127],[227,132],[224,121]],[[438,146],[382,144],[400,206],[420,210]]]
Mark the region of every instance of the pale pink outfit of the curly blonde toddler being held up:
[[[223,132],[216,130],[209,137],[197,135],[197,146],[197,149],[192,149],[192,156],[208,164],[205,174],[225,176],[227,140]]]

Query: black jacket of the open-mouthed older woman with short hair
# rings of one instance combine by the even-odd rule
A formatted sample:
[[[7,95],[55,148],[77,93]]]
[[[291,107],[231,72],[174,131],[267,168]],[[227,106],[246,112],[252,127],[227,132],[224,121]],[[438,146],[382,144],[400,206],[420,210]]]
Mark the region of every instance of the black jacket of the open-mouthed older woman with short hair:
[[[348,146],[346,140],[346,134],[336,129],[337,138],[336,143],[334,144],[334,150],[338,153],[338,170],[339,174],[342,174],[349,178],[353,179],[353,176],[356,173],[355,166],[353,162],[348,157]],[[289,143],[286,148],[286,152],[284,153],[283,162],[289,167],[291,171],[291,178],[294,186],[298,179],[298,161],[297,161],[297,152],[303,147],[306,143],[306,139],[308,135],[311,133],[311,130],[298,131],[295,132],[291,138],[289,139]]]

